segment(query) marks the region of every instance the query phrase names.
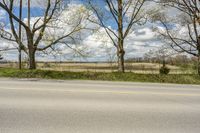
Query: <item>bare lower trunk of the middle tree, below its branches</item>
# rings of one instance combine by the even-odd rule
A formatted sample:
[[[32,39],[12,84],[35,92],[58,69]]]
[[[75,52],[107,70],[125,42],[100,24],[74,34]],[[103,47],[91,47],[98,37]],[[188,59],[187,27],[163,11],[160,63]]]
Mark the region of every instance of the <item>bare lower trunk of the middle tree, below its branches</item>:
[[[124,50],[121,50],[117,52],[117,55],[118,55],[118,71],[119,72],[125,72],[125,67],[124,67],[124,55],[125,55],[125,52]]]

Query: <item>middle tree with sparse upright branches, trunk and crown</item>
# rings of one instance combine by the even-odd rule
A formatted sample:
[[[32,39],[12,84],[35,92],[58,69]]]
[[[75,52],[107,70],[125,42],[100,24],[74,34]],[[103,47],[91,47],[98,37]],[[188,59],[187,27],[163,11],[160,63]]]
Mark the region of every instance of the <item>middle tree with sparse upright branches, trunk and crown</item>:
[[[102,0],[105,2],[106,7],[109,9],[108,12],[101,12],[101,7],[95,6],[96,0],[89,0],[89,6],[98,18],[98,21],[91,20],[103,27],[112,40],[113,45],[117,49],[118,57],[118,71],[125,72],[124,67],[124,42],[134,24],[142,24],[146,21],[144,14],[141,15],[142,7],[146,0]],[[109,17],[107,17],[109,16]],[[110,28],[107,22],[115,23],[116,30]],[[112,22],[111,22],[112,21]]]

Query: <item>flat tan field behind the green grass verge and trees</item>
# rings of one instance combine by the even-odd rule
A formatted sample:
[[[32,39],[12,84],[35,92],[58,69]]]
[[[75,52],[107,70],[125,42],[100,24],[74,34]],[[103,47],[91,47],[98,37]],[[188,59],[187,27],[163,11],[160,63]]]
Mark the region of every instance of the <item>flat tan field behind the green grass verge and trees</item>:
[[[139,74],[158,74],[161,64],[156,63],[126,63],[126,72]],[[170,74],[193,74],[192,69],[167,65]],[[17,68],[17,63],[0,64],[3,68]],[[117,72],[116,63],[77,63],[77,62],[39,62],[37,68],[41,70],[70,71],[70,72]]]

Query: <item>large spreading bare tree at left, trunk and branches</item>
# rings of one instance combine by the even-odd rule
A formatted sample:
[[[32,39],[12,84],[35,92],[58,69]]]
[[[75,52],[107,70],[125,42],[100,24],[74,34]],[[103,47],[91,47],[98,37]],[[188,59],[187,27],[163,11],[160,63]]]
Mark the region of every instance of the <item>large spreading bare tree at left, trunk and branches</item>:
[[[44,51],[46,49],[52,48],[53,45],[58,43],[66,43],[64,39],[72,38],[72,34],[75,32],[80,31],[82,27],[80,27],[82,18],[79,19],[76,23],[73,24],[73,28],[70,29],[69,32],[63,34],[62,36],[57,36],[56,38],[48,37],[48,43],[45,45],[39,45],[44,43],[44,39],[47,39],[49,29],[52,29],[54,26],[54,21],[59,21],[57,18],[59,16],[58,10],[60,8],[59,5],[62,2],[61,0],[46,0],[40,1],[43,2],[41,5],[44,9],[43,16],[32,18],[31,17],[31,3],[36,1],[28,0],[26,1],[26,8],[27,9],[27,19],[22,20],[20,19],[20,15],[16,15],[13,11],[15,4],[17,1],[15,0],[2,0],[0,1],[0,7],[5,10],[8,14],[10,29],[13,37],[3,36],[4,39],[14,41],[19,45],[20,50],[23,50],[29,57],[29,69],[36,69],[36,61],[35,61],[35,54],[37,51]],[[41,7],[40,7],[41,8]],[[17,32],[16,29],[21,27],[21,32],[23,32],[23,36],[25,36],[25,41],[21,39],[21,32]],[[55,27],[54,27],[55,28]]]

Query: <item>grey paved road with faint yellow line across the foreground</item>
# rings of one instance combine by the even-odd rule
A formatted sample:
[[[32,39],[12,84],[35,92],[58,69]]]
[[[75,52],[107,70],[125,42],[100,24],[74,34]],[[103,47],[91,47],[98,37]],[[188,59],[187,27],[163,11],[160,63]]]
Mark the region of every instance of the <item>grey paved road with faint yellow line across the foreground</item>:
[[[200,133],[200,86],[0,79],[0,133]]]

